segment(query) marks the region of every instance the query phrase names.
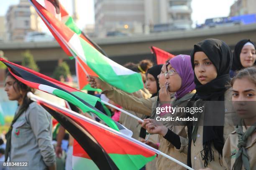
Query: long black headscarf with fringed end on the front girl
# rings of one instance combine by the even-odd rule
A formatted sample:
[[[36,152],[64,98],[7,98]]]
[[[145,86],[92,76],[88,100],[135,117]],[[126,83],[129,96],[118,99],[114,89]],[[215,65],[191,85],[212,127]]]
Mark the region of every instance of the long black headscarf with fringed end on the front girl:
[[[194,57],[195,52],[202,51],[207,57],[211,60],[213,65],[217,70],[217,77],[208,82],[205,85],[202,85],[198,80],[194,72],[195,84],[196,84],[196,93],[192,97],[192,100],[202,99],[205,101],[224,101],[224,94],[227,90],[226,86],[230,80],[229,71],[232,63],[232,53],[228,45],[217,39],[206,39],[198,44],[194,45],[194,50],[191,52],[191,63],[193,70],[195,69]],[[216,110],[215,108],[208,108],[207,110]],[[220,106],[220,110],[223,110],[222,118],[224,123],[224,102]],[[205,112],[205,118],[207,118]],[[204,119],[205,119],[204,118]],[[190,135],[191,136],[191,135]],[[190,140],[191,141],[191,140]],[[192,142],[192,141],[191,141]],[[203,128],[203,148],[201,151],[202,159],[205,160],[205,167],[208,165],[208,160],[214,160],[213,153],[211,150],[211,144],[213,143],[218,153],[222,155],[222,150],[224,146],[223,139],[223,126],[204,126]],[[191,144],[190,144],[191,145]],[[190,153],[191,154],[191,153]],[[209,155],[210,154],[210,155]],[[190,155],[191,156],[191,155]],[[190,160],[191,161],[191,160]]]

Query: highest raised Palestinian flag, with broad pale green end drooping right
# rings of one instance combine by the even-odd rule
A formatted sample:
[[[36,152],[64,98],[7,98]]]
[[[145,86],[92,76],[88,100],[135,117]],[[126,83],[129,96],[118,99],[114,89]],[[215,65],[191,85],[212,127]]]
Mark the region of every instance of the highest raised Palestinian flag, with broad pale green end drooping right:
[[[65,14],[64,10],[61,10],[62,7],[58,3],[59,1],[50,1],[52,7],[55,9],[55,13],[58,15],[54,15],[49,10],[46,10],[46,8],[40,5],[36,0],[30,0],[30,2],[59,42],[60,46],[69,56],[71,53],[75,55],[74,57],[78,56],[78,58],[90,67],[102,80],[125,92],[132,93],[143,88],[142,78],[139,73],[133,72],[110,60],[97,50],[92,43],[83,38],[84,35],[81,34],[81,31],[73,24],[74,22],[70,20],[69,15],[67,13]],[[61,14],[62,12],[63,15]],[[60,20],[58,18],[59,15],[63,19]],[[64,22],[64,18],[66,18],[66,22]],[[70,27],[73,29],[70,29]]]

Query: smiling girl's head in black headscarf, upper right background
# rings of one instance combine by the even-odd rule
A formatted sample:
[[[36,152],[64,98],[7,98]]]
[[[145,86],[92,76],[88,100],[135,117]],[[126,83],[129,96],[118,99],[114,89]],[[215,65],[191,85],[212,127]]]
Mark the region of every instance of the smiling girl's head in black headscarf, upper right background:
[[[231,78],[236,75],[236,71],[256,65],[255,49],[256,47],[250,39],[241,40],[236,44],[230,70]]]

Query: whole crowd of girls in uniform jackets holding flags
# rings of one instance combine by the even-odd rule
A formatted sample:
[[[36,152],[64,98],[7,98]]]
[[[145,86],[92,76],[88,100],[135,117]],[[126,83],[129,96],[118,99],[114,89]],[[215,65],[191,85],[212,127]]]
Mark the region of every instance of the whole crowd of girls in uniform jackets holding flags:
[[[153,65],[149,60],[126,64],[125,67],[140,72],[144,82],[145,88],[134,93],[117,89],[98,77],[90,76],[88,81],[91,87],[101,89],[101,95],[110,103],[143,119],[136,121],[123,112],[110,110],[114,120],[133,132],[132,138],[195,170],[253,170],[256,169],[256,107],[247,108],[246,102],[256,101],[255,64],[256,47],[251,40],[239,41],[231,52],[222,40],[206,39],[193,46],[190,56],[177,55],[161,65]],[[50,114],[26,95],[33,89],[7,74],[5,91],[9,100],[18,101],[19,107],[5,136],[5,150],[0,148],[0,158],[5,153],[5,161],[29,161],[31,169],[58,169],[56,157],[62,154],[64,128],[59,129],[54,147]],[[200,107],[207,101],[220,104],[218,108],[207,105],[201,114],[194,114],[197,122],[180,125],[156,120],[157,116],[189,116],[176,111],[156,115],[156,107]],[[217,116],[216,112],[220,125],[207,125],[207,118]],[[230,115],[234,113],[240,118],[237,124],[230,123]],[[66,170],[72,169],[72,141],[70,136]],[[158,155],[142,169],[186,168]]]

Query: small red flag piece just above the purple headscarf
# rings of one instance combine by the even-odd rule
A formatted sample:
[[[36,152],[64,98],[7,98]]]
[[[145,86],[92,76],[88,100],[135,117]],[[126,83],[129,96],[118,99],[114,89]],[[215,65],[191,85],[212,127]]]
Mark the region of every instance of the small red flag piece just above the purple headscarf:
[[[151,46],[151,52],[153,53],[154,61],[156,61],[157,64],[164,64],[166,60],[169,60],[175,56],[154,46]]]

